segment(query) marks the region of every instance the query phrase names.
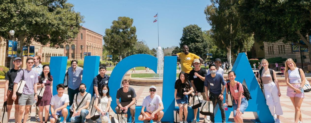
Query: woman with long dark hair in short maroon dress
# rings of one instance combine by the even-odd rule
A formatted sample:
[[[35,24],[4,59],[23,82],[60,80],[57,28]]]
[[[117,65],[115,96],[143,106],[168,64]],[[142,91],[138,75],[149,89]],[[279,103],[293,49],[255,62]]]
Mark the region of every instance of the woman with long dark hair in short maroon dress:
[[[43,109],[44,109],[44,119],[45,122],[48,121],[49,117],[49,110],[50,110],[50,102],[52,98],[52,83],[53,77],[50,74],[50,66],[44,65],[42,73],[38,76],[39,84],[37,88],[43,87],[45,88],[43,92],[42,98],[38,98],[37,106],[39,107],[39,118],[41,119],[41,123],[43,123]],[[35,92],[36,93],[36,92]]]

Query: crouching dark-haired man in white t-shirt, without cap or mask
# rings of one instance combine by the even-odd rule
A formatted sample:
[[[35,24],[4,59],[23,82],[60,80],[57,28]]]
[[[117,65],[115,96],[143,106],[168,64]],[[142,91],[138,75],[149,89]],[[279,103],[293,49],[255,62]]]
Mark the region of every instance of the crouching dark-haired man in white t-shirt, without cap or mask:
[[[58,84],[56,86],[57,94],[51,98],[51,117],[50,122],[55,123],[59,117],[64,117],[63,123],[66,123],[68,116],[67,105],[69,103],[68,94],[64,94],[65,85]]]

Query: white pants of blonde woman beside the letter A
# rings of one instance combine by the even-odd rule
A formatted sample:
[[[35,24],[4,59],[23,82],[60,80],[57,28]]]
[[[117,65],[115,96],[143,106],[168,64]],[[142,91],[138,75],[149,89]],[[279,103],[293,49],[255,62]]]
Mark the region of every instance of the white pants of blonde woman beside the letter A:
[[[269,110],[274,116],[276,115],[283,115],[281,103],[280,103],[280,98],[278,96],[278,89],[275,85],[274,82],[269,83],[269,84],[263,84],[263,90],[265,92],[265,97],[267,100],[267,105],[269,107]],[[274,113],[274,108],[275,108],[275,113]]]

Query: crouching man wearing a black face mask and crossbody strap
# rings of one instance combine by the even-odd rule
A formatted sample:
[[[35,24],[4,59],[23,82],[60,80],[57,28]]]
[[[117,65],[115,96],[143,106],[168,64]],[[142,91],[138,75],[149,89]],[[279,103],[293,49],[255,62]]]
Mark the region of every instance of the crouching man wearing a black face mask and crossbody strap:
[[[79,86],[80,93],[77,93],[74,95],[73,103],[70,109],[72,109],[72,117],[70,118],[70,121],[72,123],[85,123],[86,116],[89,114],[89,105],[91,102],[91,94],[87,93],[86,91],[86,85],[84,83],[81,83]],[[84,96],[86,96],[84,98]],[[84,98],[84,99],[83,99]],[[79,106],[79,107],[78,107]]]

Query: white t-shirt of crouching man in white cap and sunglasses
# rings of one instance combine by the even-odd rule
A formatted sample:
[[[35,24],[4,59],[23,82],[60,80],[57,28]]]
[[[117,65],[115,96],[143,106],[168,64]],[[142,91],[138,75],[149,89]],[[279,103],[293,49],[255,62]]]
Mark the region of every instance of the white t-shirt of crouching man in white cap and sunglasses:
[[[159,108],[159,104],[162,102],[161,97],[159,95],[155,95],[154,98],[150,98],[146,96],[144,100],[142,100],[142,106],[146,107],[146,112],[154,112]]]

